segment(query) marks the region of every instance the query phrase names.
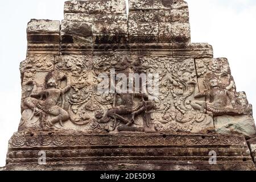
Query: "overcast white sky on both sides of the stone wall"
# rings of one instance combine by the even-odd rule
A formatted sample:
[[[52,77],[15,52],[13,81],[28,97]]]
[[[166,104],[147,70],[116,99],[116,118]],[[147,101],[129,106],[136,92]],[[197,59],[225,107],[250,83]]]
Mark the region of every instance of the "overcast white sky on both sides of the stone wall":
[[[20,121],[19,63],[26,58],[26,27],[31,18],[63,19],[65,0],[12,0],[0,6],[0,166]],[[237,90],[256,107],[256,1],[187,0],[192,42],[213,46],[214,57],[227,57]]]

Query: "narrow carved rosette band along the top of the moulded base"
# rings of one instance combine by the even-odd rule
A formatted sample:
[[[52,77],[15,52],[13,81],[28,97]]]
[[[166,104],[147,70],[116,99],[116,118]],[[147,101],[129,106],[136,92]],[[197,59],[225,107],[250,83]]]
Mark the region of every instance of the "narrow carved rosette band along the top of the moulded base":
[[[51,134],[51,135],[49,135]],[[246,146],[239,135],[193,134],[26,134],[15,133],[9,149],[86,146]]]

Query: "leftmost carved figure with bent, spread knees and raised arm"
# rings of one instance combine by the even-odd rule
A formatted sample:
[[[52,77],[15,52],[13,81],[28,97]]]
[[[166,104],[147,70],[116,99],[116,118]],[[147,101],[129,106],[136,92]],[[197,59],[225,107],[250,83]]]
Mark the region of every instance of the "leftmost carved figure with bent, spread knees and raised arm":
[[[24,100],[24,106],[33,111],[31,119],[35,115],[39,116],[43,128],[51,128],[57,122],[63,126],[63,122],[69,119],[69,114],[63,107],[64,94],[71,89],[70,81],[67,81],[65,88],[59,89],[57,80],[55,73],[49,72],[46,77],[46,89],[32,93],[30,97]],[[62,107],[57,105],[61,96],[63,97]],[[49,115],[53,116],[53,118],[48,119]]]

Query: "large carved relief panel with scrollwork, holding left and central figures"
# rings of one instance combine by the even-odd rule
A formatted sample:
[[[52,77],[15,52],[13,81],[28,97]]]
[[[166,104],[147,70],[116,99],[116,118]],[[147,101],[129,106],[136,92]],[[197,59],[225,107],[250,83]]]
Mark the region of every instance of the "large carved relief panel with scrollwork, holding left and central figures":
[[[51,59],[44,56],[41,67],[52,63]],[[38,129],[74,129],[89,133],[122,130],[197,133],[213,127],[211,115],[193,107],[197,88],[193,59],[119,52],[61,55],[53,60],[54,71],[39,69],[29,79],[24,74],[20,130],[36,126]],[[22,63],[22,72],[29,63],[28,60]],[[97,86],[101,80],[98,75],[110,75],[110,69],[127,76],[129,73],[160,73],[159,96],[150,101],[148,96],[154,93],[99,94]],[[51,81],[49,75],[55,77],[53,83],[47,82]],[[50,92],[52,89],[56,90]],[[48,100],[54,101],[48,104]]]

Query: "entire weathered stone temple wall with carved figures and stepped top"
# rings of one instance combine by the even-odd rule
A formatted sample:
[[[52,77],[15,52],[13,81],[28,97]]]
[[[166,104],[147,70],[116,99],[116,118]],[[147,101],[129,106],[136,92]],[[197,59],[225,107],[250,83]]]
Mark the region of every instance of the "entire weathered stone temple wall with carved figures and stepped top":
[[[67,1],[27,40],[6,170],[255,170],[252,106],[228,60],[191,43],[187,2]],[[159,92],[100,93],[102,73],[155,73],[139,88]]]

